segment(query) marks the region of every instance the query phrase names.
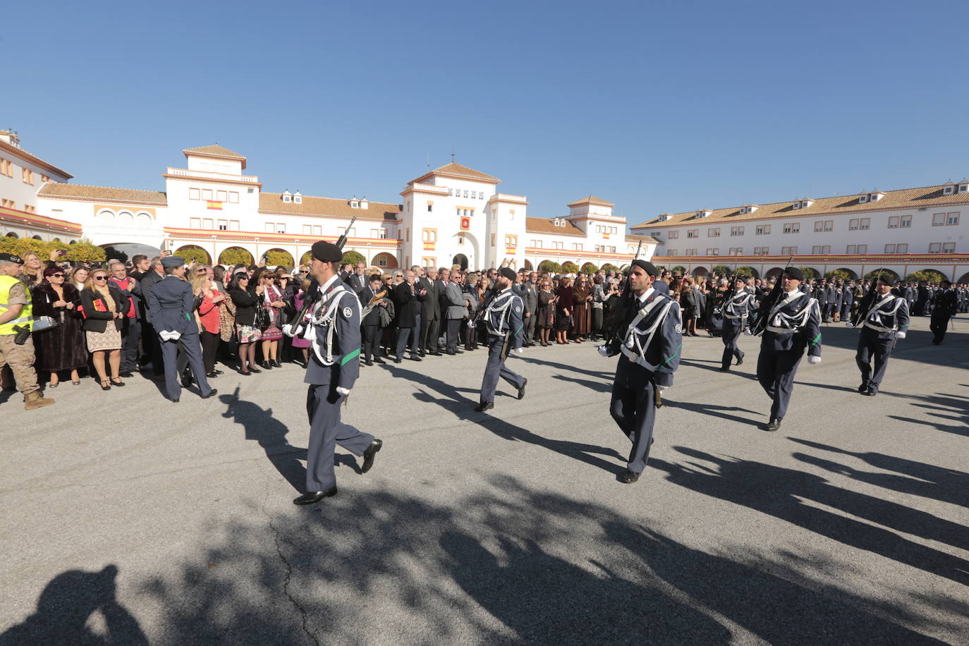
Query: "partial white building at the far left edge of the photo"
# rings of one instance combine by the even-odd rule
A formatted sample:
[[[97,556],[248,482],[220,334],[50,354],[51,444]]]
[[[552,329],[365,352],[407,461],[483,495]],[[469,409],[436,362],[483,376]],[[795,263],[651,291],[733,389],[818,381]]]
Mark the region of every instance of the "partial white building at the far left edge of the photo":
[[[76,222],[37,212],[38,189],[71,177],[21,148],[15,132],[0,130],[0,235],[77,241],[81,231]]]

